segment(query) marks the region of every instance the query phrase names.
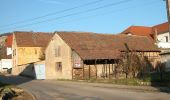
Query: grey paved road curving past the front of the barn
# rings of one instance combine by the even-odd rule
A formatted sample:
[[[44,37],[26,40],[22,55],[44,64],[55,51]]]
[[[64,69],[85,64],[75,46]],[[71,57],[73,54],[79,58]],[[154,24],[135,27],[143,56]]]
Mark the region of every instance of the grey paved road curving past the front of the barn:
[[[170,94],[163,92],[96,87],[86,83],[2,76],[0,81],[18,84],[19,87],[33,93],[38,100],[169,100],[170,98]]]

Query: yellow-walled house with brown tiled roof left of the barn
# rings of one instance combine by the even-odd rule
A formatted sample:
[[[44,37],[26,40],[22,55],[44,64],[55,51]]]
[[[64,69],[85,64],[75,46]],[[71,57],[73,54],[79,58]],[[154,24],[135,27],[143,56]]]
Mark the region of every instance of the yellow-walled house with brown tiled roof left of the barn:
[[[13,32],[12,74],[34,77],[34,62],[45,60],[44,50],[52,34],[43,32]]]

